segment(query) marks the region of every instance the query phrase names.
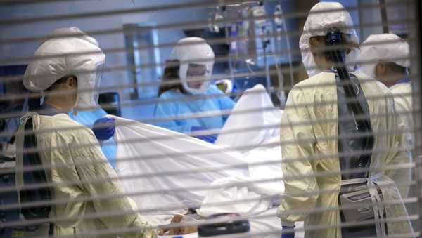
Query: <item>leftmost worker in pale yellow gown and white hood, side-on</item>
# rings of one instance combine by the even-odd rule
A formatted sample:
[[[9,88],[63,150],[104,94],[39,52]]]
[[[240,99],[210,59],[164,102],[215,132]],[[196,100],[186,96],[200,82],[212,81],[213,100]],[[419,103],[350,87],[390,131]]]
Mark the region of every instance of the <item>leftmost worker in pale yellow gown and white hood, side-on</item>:
[[[46,179],[53,184],[53,200],[62,200],[51,208],[54,236],[155,237],[136,212],[136,204],[123,195],[120,181],[110,180],[117,175],[94,133],[68,116],[71,110],[98,106],[105,55],[92,40],[87,35],[49,39],[35,51],[23,84],[30,91],[43,92],[44,104],[23,117],[18,146],[23,148],[24,124],[32,118],[42,164],[51,168]],[[17,168],[22,163],[20,152]],[[19,190],[22,172],[17,172],[16,180]]]

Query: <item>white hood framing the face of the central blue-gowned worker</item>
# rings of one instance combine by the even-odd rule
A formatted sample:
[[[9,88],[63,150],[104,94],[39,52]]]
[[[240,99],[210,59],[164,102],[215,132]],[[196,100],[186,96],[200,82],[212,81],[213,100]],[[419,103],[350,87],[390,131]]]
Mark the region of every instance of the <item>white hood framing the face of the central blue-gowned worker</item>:
[[[177,42],[174,46],[172,53],[170,54],[170,60],[179,60],[179,77],[181,85],[184,89],[190,93],[205,93],[208,86],[210,86],[210,80],[212,74],[212,67],[214,66],[214,51],[205,39],[200,37],[186,37]],[[203,85],[200,88],[189,88],[187,83],[187,71],[189,64],[205,65],[207,73]]]

